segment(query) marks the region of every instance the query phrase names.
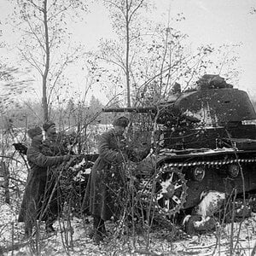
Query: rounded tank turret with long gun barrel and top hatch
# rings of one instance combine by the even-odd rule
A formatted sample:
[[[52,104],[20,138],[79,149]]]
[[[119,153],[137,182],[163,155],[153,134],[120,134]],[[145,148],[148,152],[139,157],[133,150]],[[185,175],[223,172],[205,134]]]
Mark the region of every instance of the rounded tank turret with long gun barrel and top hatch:
[[[234,89],[218,75],[204,75],[195,90],[170,96],[165,102],[146,108],[104,108],[104,112],[157,113],[160,123],[168,125],[173,116],[201,120],[206,126],[218,127],[228,123],[256,119],[253,105],[243,90]],[[166,121],[166,123],[163,123]]]

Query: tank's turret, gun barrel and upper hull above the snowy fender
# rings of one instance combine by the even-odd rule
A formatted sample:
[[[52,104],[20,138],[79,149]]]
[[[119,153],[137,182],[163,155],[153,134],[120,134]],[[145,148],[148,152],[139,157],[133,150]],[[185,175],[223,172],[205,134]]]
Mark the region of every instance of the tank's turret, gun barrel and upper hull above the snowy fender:
[[[104,108],[104,112],[158,113],[165,148],[219,148],[232,138],[256,139],[253,105],[243,90],[218,75],[204,75],[195,90],[169,96],[158,106]]]

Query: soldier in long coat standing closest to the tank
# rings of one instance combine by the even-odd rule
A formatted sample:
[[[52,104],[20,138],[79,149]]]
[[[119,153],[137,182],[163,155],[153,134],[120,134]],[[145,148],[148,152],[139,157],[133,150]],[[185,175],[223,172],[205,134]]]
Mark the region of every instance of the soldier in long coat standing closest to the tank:
[[[125,127],[129,120],[119,117],[113,121],[113,129],[104,132],[100,137],[97,158],[90,172],[84,196],[84,208],[93,216],[93,239],[98,243],[106,236],[104,222],[118,214],[117,198],[113,191],[119,183],[122,184],[122,164],[129,157],[135,159],[132,150],[128,150],[125,143]],[[141,155],[143,159],[148,154],[149,148]],[[115,188],[114,188],[115,187]],[[91,234],[90,234],[91,235]]]

